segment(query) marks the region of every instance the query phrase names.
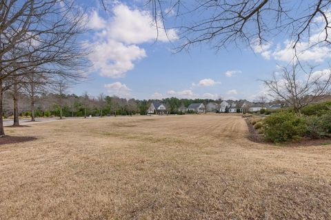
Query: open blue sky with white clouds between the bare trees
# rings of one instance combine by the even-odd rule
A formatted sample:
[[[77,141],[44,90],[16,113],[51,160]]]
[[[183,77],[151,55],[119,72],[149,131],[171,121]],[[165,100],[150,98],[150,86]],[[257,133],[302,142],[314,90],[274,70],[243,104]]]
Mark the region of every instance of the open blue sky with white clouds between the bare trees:
[[[83,4],[88,4],[91,29],[84,38],[94,48],[90,55],[94,66],[87,70],[90,80],[72,88],[75,94],[254,100],[266,92],[259,79],[270,78],[277,72],[277,64],[288,63],[292,55],[287,39],[272,39],[253,50],[229,45],[227,50],[215,52],[201,45],[173,54],[177,30],[168,30],[174,44],[164,33],[154,42],[157,34],[147,10],[121,1],[108,5],[108,12],[98,1]],[[317,47],[303,52],[302,60],[323,68],[330,52]]]

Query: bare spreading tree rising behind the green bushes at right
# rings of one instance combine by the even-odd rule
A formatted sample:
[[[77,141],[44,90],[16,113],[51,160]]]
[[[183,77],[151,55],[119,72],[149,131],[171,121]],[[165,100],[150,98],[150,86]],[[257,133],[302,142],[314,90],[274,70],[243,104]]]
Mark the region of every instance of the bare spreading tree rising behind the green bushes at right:
[[[293,63],[290,68],[282,67],[281,74],[273,74],[271,80],[263,80],[272,97],[284,100],[297,113],[331,91],[331,68],[317,72],[314,72],[314,67],[308,67],[308,71],[305,69]]]

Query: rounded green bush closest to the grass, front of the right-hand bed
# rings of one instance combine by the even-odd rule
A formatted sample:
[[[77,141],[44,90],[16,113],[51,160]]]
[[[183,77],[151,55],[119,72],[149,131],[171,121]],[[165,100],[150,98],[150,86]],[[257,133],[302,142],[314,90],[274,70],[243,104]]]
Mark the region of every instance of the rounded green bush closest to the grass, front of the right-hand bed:
[[[298,140],[307,131],[304,118],[288,111],[268,116],[263,124],[265,140],[274,143]]]

